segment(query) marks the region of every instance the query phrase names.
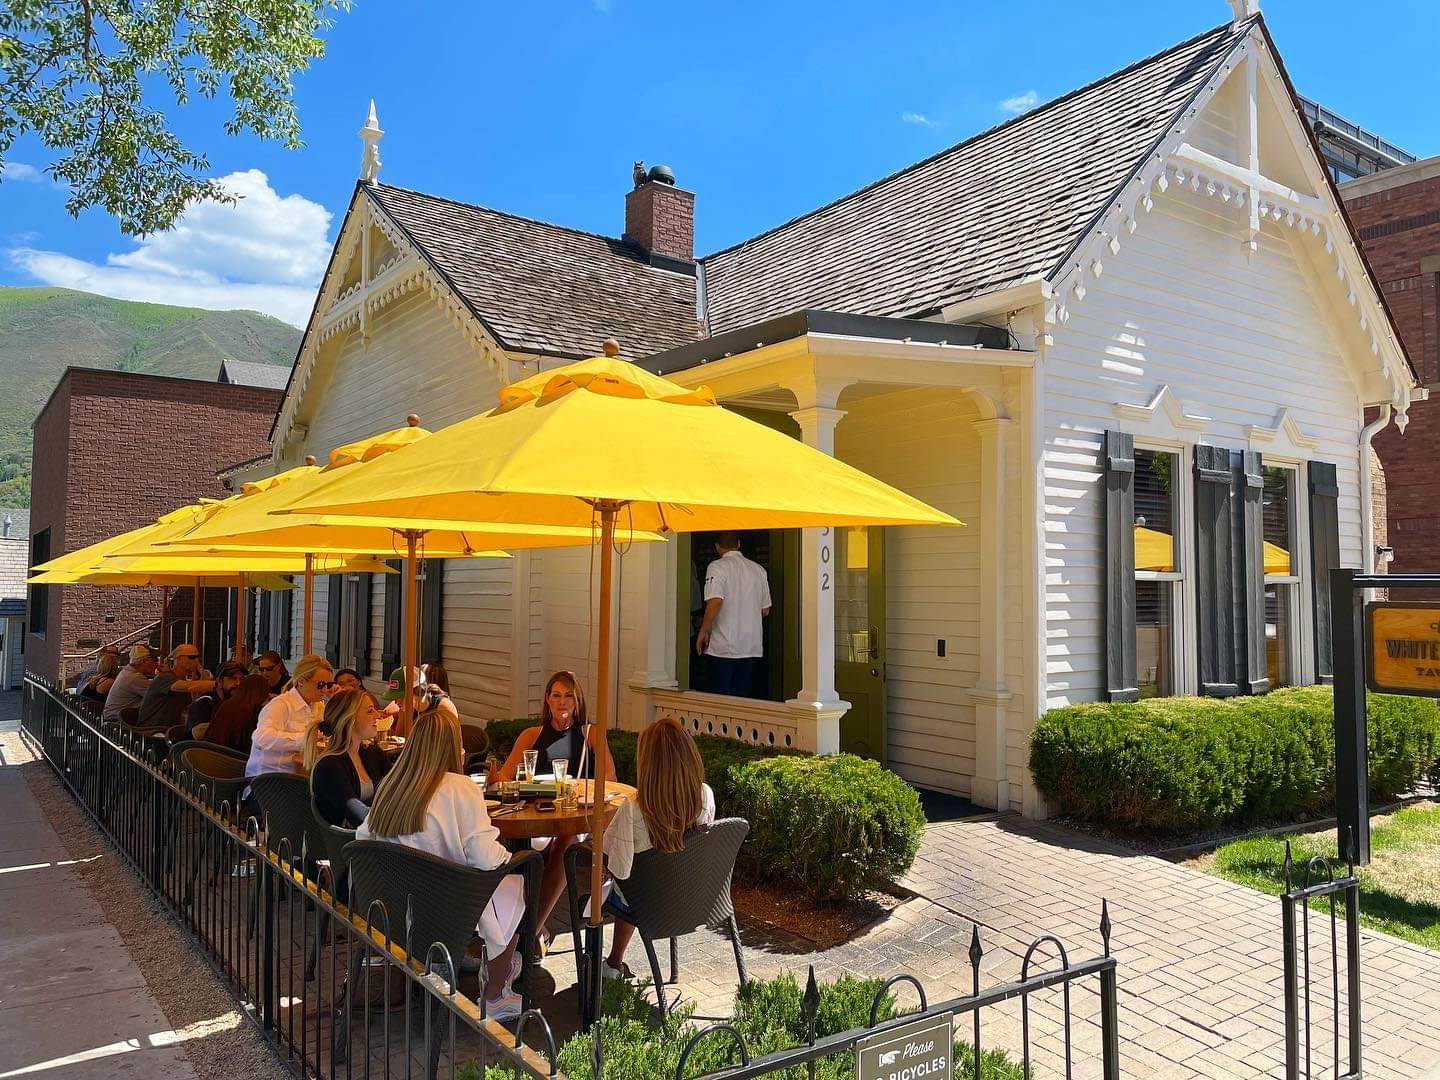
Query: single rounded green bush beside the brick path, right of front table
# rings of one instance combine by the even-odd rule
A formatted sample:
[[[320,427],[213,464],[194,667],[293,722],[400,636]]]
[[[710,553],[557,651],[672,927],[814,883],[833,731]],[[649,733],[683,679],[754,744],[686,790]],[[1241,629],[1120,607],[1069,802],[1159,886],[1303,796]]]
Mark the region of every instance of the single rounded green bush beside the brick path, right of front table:
[[[914,788],[854,755],[768,757],[732,772],[750,822],[742,871],[834,903],[884,888],[910,868],[924,832]]]

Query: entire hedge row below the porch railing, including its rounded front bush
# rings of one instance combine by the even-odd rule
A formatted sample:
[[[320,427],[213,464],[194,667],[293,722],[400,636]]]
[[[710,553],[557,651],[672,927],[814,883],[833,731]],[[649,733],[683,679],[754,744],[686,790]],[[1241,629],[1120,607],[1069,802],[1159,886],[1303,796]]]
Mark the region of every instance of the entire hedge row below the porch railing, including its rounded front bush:
[[[485,732],[504,759],[536,720],[492,720]],[[914,788],[852,755],[815,757],[713,734],[694,736],[721,818],[744,818],[750,835],[739,871],[795,887],[821,903],[893,886],[914,861],[924,812]],[[609,733],[615,775],[635,783],[634,732]]]

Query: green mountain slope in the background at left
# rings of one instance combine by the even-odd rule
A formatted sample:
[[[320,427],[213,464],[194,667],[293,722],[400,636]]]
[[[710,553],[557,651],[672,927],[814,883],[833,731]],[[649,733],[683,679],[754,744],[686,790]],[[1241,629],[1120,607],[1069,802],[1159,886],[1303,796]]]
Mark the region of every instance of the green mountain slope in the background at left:
[[[215,379],[225,359],[289,367],[298,346],[258,311],[0,287],[0,507],[30,503],[30,425],[66,367]]]

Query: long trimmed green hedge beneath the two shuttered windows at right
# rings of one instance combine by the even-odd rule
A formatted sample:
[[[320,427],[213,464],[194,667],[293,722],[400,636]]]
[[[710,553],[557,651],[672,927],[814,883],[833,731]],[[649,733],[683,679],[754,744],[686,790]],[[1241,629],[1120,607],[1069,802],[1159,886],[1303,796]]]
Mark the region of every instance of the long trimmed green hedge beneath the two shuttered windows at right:
[[[1371,694],[1369,786],[1394,798],[1436,770],[1440,707]],[[1293,819],[1335,798],[1333,697],[1171,697],[1053,708],[1030,737],[1035,786],[1071,816],[1143,832]]]

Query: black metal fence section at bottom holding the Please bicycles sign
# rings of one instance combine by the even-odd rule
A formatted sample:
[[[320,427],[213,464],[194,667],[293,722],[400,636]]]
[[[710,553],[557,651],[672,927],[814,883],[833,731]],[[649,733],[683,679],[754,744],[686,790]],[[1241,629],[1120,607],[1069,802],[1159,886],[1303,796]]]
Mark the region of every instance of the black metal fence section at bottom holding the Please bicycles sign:
[[[963,1053],[968,1060],[955,1060],[950,1066],[955,1070],[955,1076],[962,1074],[962,1068],[971,1070],[968,1074],[973,1080],[979,1080],[985,1076],[985,1051],[982,1043],[981,1017],[988,1008],[994,1008],[1001,1002],[1020,1001],[1020,1017],[1021,1017],[1021,1061],[1020,1074],[1025,1077],[1032,1077],[1038,1074],[1037,1066],[1032,1061],[1032,1047],[1031,1047],[1031,1004],[1032,995],[1041,991],[1058,989],[1061,995],[1061,1032],[1063,1032],[1063,1076],[1074,1076],[1074,1057],[1076,1048],[1073,1043],[1073,1012],[1071,1012],[1071,988],[1076,985],[1090,985],[1099,991],[1100,996],[1100,1048],[1099,1058],[1102,1067],[1102,1076],[1104,1080],[1117,1080],[1120,1076],[1120,1021],[1119,1021],[1119,989],[1117,989],[1117,965],[1115,956],[1110,955],[1110,912],[1109,904],[1102,901],[1100,906],[1100,940],[1103,943],[1103,952],[1089,960],[1079,960],[1071,963],[1068,955],[1066,953],[1064,945],[1054,935],[1041,935],[1035,937],[1030,948],[1025,950],[1025,956],[1021,960],[1020,978],[1012,982],[1005,982],[998,986],[991,986],[989,989],[981,989],[981,962],[985,958],[985,952],[981,948],[979,927],[975,926],[971,930],[971,948],[969,948],[969,962],[971,962],[971,985],[972,992],[962,998],[952,998],[949,1001],[942,1001],[939,1004],[929,1004],[926,999],[924,988],[920,981],[913,975],[896,975],[888,979],[874,995],[870,1005],[870,1022],[864,1027],[851,1028],[848,1031],[841,1031],[834,1035],[815,1035],[815,1017],[821,1007],[821,991],[815,984],[815,969],[811,968],[809,979],[805,986],[805,992],[801,998],[802,1009],[802,1024],[809,1032],[809,1038],[805,1044],[792,1047],[789,1050],[779,1050],[763,1057],[750,1058],[749,1047],[744,1044],[744,1038],[736,1030],[733,1024],[719,1022],[711,1024],[706,1028],[697,1031],[690,1041],[685,1044],[684,1051],[680,1056],[680,1061],[675,1066],[675,1080],[696,1080],[687,1076],[687,1064],[690,1061],[691,1053],[696,1047],[707,1038],[723,1037],[734,1048],[734,1056],[739,1063],[730,1068],[724,1068],[716,1073],[706,1073],[698,1080],[746,1080],[747,1077],[763,1077],[785,1073],[786,1070],[804,1066],[806,1076],[814,1077],[816,1064],[824,1058],[835,1057],[837,1054],[855,1053],[863,1045],[876,1043],[884,1043],[887,1035],[901,1035],[906,1030],[913,1027],[923,1027],[926,1021],[945,1020],[949,1018],[949,1028],[953,1031],[955,1037],[968,1037],[971,1040],[969,1045],[962,1045],[960,1043],[953,1043],[946,1050],[946,1060],[949,1060],[949,1051],[953,1048],[958,1053]],[[1053,949],[1054,959],[1058,960],[1058,966],[1035,971],[1037,958],[1043,950]],[[1090,981],[1089,984],[1086,981]],[[900,1012],[884,1021],[880,1021],[880,1008],[890,995],[891,989],[900,984],[909,984],[914,992],[919,995],[920,1008],[914,1012]],[[968,1024],[966,1024],[968,1018]],[[962,1030],[962,1025],[968,1030]],[[949,1071],[929,1073],[923,1071],[926,1067],[920,1066],[920,1071],[912,1071],[912,1076],[930,1076],[942,1074],[950,1076]]]

